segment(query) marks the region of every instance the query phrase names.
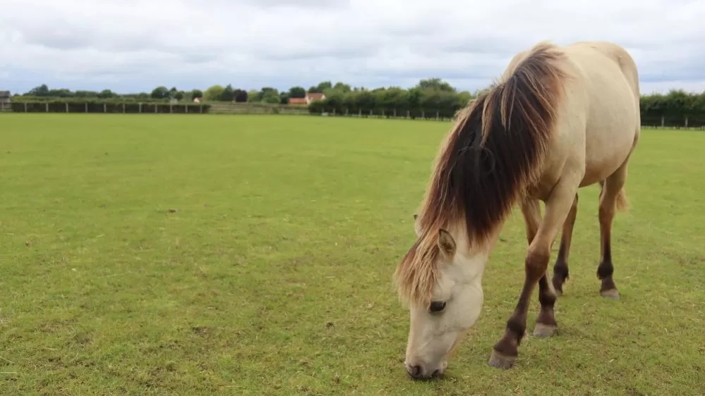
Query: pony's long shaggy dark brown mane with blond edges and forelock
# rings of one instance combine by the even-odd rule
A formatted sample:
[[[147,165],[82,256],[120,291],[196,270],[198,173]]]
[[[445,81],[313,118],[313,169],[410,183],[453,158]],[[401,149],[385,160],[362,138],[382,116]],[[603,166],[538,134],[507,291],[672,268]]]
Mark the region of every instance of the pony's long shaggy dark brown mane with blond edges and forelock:
[[[421,234],[394,273],[402,299],[430,302],[440,228],[462,225],[469,247],[486,243],[541,175],[568,76],[564,62],[555,45],[536,44],[512,73],[457,113],[418,214]]]

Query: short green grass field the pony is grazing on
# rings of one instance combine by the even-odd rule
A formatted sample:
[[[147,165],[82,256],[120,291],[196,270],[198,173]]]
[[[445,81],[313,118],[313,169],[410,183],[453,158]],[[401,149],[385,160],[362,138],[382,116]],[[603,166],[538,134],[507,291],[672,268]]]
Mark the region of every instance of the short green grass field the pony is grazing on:
[[[448,126],[0,116],[1,394],[702,394],[705,134],[675,130],[644,130],[632,160],[620,301],[598,293],[588,187],[560,333],[490,368],[523,282],[514,211],[475,330],[445,378],[409,380],[391,276]]]

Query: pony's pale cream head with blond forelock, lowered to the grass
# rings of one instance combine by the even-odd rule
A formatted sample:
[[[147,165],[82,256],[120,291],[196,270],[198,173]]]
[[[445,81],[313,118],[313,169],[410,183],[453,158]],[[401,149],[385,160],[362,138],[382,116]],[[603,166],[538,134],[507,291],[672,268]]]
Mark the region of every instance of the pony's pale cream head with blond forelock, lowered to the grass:
[[[469,249],[460,227],[423,234],[414,218],[418,240],[396,275],[410,314],[404,366],[409,376],[422,379],[445,371],[480,316],[489,249]]]

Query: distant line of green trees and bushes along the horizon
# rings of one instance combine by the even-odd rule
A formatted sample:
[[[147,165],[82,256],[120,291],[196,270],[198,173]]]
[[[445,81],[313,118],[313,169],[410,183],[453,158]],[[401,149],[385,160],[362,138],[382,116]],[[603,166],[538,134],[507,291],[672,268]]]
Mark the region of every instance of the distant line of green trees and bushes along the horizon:
[[[149,102],[188,101],[199,98],[205,102],[234,102],[236,104],[288,104],[290,98],[303,98],[307,93],[323,93],[325,99],[313,101],[311,113],[358,114],[361,116],[407,116],[411,118],[452,118],[454,113],[466,106],[480,92],[460,91],[440,78],[421,80],[414,87],[351,87],[343,82],[323,81],[308,89],[295,86],[279,91],[275,87],[241,89],[233,85],[213,85],[200,89],[180,90],[176,87],[159,86],[152,92],[118,94],[109,89],[97,91],[75,91],[49,89],[40,85],[24,94],[15,95],[19,101],[109,101]],[[705,125],[705,92],[689,93],[674,89],[666,94],[641,96],[641,118],[645,125]]]

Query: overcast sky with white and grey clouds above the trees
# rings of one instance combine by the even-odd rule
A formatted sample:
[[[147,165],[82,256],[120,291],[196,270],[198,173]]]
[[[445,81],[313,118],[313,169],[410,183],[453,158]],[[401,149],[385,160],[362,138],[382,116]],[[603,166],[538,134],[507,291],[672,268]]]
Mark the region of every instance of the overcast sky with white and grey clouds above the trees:
[[[703,0],[2,0],[0,89],[474,91],[541,39],[606,39],[632,52],[642,92],[702,92],[704,20]]]

